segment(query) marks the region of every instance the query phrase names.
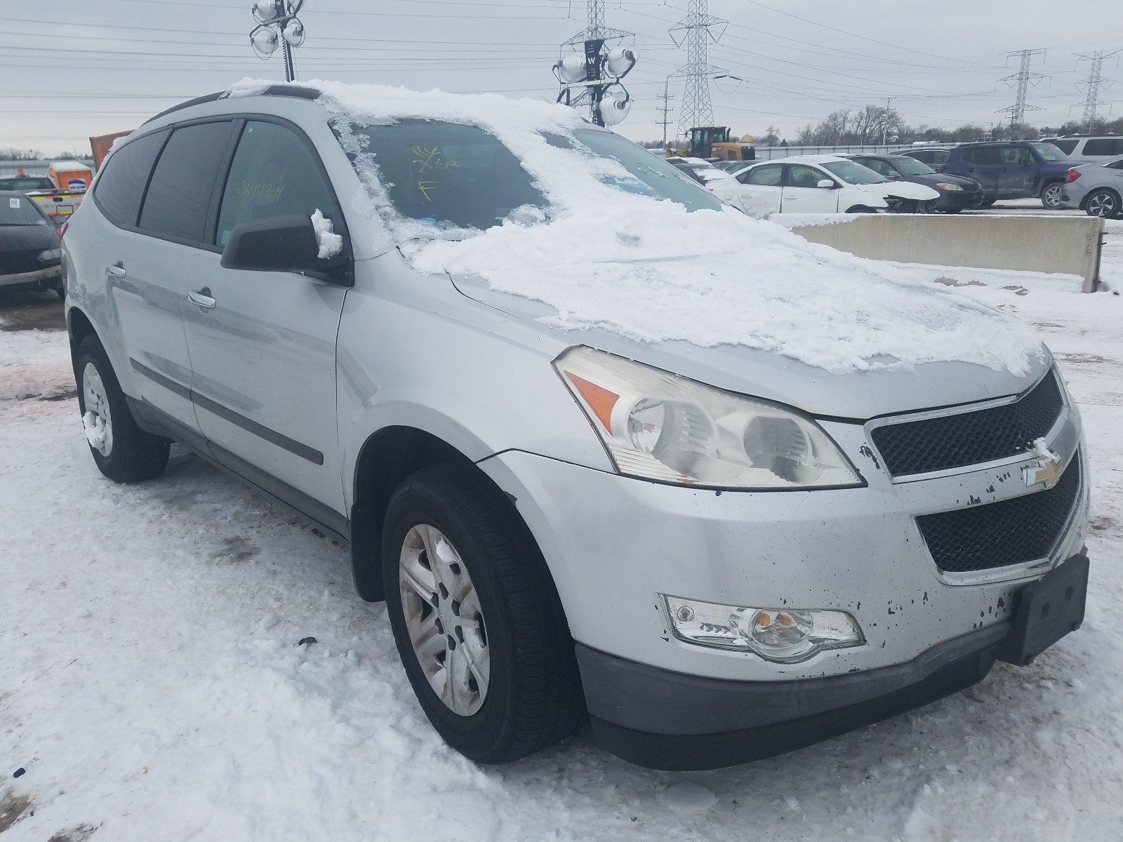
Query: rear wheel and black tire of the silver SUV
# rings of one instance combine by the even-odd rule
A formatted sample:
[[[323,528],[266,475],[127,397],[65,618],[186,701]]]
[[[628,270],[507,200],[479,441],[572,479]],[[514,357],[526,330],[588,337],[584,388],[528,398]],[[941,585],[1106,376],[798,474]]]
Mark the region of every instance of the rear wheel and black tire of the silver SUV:
[[[98,469],[115,483],[158,476],[172,442],[137,427],[106,349],[92,333],[74,355],[77,405]]]

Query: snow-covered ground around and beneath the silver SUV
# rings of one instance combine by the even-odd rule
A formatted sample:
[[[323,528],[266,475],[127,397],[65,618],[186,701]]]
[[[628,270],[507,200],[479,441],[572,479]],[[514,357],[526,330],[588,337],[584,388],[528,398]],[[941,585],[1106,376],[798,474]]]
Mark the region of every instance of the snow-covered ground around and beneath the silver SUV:
[[[702,774],[631,767],[586,734],[503,768],[449,751],[344,549],[183,454],[155,482],[103,479],[57,302],[4,296],[0,842],[1119,839],[1123,298],[940,274],[1040,330],[1081,405],[1087,622],[1031,668]],[[1121,222],[1104,277],[1123,289]]]

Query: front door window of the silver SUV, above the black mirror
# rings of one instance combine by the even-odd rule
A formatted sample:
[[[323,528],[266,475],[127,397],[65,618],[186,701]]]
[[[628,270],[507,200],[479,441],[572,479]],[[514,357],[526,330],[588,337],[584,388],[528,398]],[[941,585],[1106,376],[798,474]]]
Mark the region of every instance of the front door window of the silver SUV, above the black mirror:
[[[247,121],[222,191],[214,244],[225,246],[241,222],[290,213],[310,217],[317,210],[339,218],[314,153],[292,129]]]

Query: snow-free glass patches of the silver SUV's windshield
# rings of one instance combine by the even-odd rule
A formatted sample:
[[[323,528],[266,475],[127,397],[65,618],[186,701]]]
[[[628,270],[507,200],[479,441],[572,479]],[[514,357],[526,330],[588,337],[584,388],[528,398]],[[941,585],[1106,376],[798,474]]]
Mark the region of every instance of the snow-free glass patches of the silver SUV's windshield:
[[[476,126],[403,119],[385,126],[349,123],[348,128],[359,148],[373,154],[391,204],[407,219],[485,230],[518,209],[549,205],[519,158]],[[619,135],[578,129],[572,138],[548,135],[546,139],[555,147],[619,162],[628,175],[601,180],[617,190],[678,202],[690,210],[721,208],[716,199],[683,182],[669,164]],[[575,172],[575,177],[581,175]]]

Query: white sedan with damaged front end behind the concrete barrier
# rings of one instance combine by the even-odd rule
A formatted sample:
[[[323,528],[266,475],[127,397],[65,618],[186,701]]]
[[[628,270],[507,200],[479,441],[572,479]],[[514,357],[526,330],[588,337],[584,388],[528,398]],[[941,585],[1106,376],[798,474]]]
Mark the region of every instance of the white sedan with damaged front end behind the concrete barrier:
[[[723,202],[750,217],[917,211],[940,198],[923,184],[889,181],[869,167],[836,155],[764,161],[707,186]]]

